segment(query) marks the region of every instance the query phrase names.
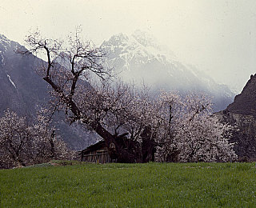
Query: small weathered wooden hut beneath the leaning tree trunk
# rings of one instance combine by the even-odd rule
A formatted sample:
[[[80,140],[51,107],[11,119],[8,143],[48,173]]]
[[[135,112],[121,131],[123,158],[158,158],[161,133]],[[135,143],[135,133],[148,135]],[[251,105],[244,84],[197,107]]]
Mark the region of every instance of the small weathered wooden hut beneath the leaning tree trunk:
[[[88,146],[81,153],[82,162],[108,163],[115,162],[110,159],[106,143],[104,140],[97,142],[94,145]]]

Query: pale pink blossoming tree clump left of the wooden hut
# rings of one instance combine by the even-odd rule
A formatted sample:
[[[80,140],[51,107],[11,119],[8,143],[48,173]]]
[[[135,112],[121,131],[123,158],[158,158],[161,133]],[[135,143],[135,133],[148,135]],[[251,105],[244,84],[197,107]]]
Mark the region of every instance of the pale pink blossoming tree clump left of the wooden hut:
[[[46,115],[38,114],[32,124],[6,110],[0,118],[0,167],[28,166],[50,159],[72,158],[73,152],[54,134]]]

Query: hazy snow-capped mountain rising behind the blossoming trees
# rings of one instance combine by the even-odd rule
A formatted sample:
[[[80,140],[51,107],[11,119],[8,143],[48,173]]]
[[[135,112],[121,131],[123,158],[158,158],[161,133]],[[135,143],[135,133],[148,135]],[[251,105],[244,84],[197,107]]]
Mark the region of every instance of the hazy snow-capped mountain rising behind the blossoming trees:
[[[234,98],[227,86],[218,85],[194,66],[178,61],[171,50],[146,32],[117,34],[101,47],[108,54],[107,65],[124,81],[146,82],[156,90],[204,91],[215,97],[215,110],[226,108]]]

